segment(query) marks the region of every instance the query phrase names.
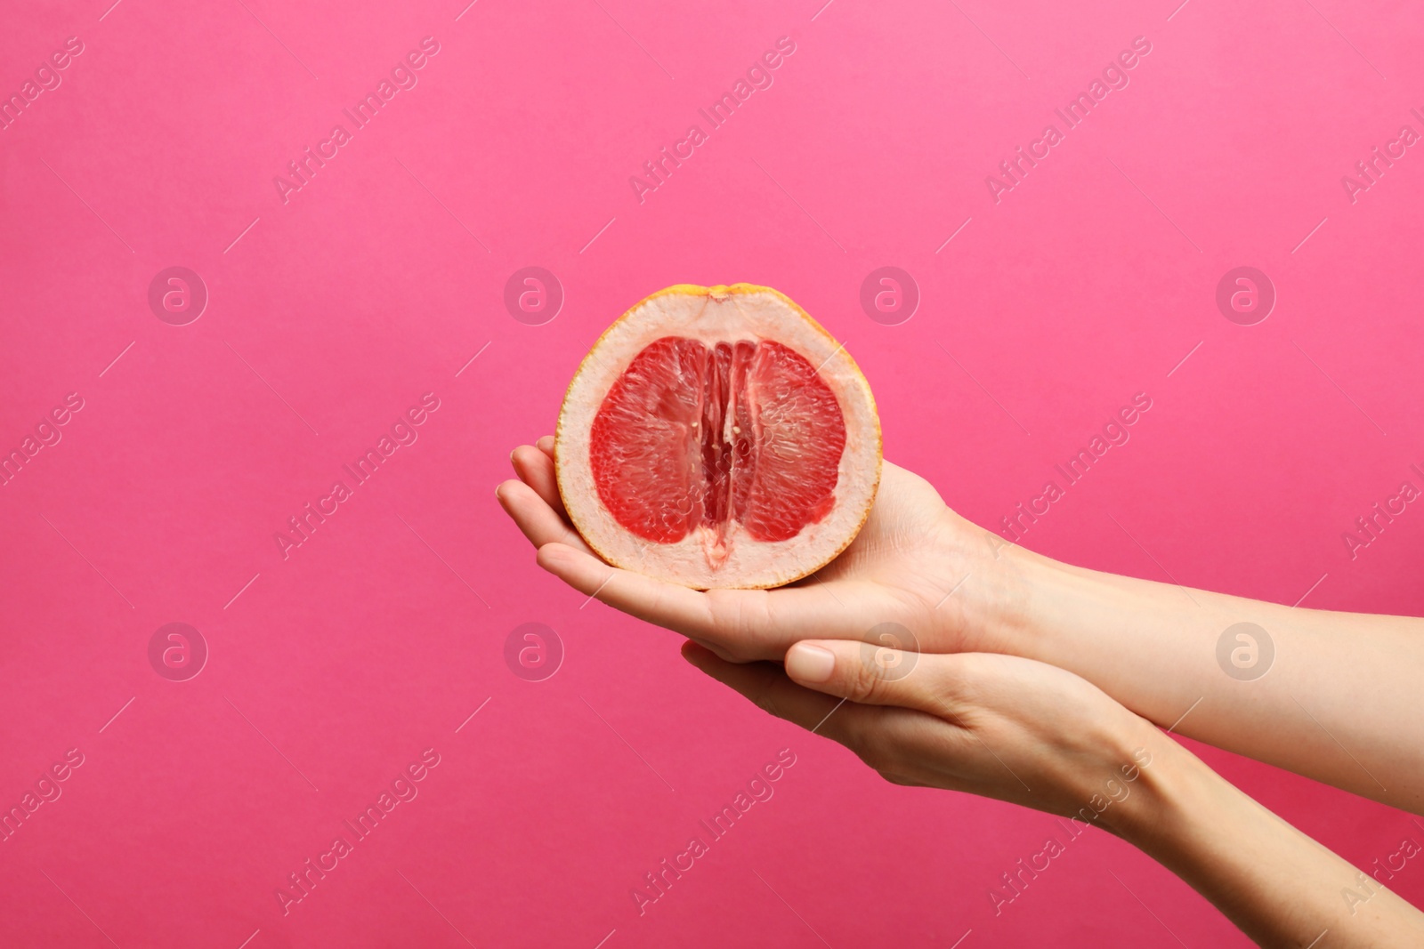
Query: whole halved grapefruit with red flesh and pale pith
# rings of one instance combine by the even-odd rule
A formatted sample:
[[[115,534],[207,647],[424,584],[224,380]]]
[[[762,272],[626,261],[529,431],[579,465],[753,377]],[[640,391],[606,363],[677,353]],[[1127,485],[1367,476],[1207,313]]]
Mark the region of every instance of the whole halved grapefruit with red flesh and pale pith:
[[[570,519],[609,563],[698,589],[780,586],[864,524],[880,420],[844,346],[783,293],[679,285],[594,344],[554,457]]]

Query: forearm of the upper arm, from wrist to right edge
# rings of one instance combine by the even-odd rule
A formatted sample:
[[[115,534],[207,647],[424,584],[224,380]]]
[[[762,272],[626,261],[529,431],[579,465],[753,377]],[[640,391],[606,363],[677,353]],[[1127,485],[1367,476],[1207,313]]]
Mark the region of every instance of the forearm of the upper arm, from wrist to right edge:
[[[1293,609],[1021,548],[1005,556],[1022,590],[1012,652],[1078,673],[1162,727],[1424,812],[1424,620]],[[1242,627],[1255,646],[1237,640],[1237,623],[1265,636]]]

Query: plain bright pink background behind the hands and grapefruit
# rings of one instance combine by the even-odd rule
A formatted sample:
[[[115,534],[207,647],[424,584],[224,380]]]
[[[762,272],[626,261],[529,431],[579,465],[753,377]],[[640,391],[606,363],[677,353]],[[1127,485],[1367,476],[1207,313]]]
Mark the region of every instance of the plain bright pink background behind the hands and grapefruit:
[[[1341,532],[1424,465],[1424,154],[1354,203],[1340,178],[1424,132],[1424,13],[822,1],[7,13],[6,95],[66,37],[84,53],[0,132],[0,448],[67,393],[84,408],[0,488],[0,804],[84,764],[0,844],[0,943],[1245,943],[1096,831],[995,918],[1052,818],[890,787],[769,719],[538,571],[491,489],[625,307],[746,280],[847,340],[886,455],[980,524],[1145,391],[1027,546],[1420,613],[1424,512],[1356,559]],[[426,36],[419,85],[283,203],[273,176]],[[629,175],[782,36],[775,84],[639,203]],[[1131,84],[995,203],[985,176],[1138,36]],[[188,326],[147,302],[175,265],[211,295]],[[543,326],[503,304],[528,265],[567,296]],[[899,326],[859,304],[883,265],[923,295]],[[1240,265],[1279,293],[1256,326],[1215,304]],[[283,561],[286,518],[427,391],[419,441]],[[208,643],[195,679],[150,666],[168,622]],[[506,666],[525,622],[564,643],[545,682]],[[283,916],[288,874],[430,747],[419,797]],[[775,797],[639,916],[631,888],[785,747]],[[1202,754],[1360,866],[1424,839]],[[1424,869],[1394,885],[1420,902]]]

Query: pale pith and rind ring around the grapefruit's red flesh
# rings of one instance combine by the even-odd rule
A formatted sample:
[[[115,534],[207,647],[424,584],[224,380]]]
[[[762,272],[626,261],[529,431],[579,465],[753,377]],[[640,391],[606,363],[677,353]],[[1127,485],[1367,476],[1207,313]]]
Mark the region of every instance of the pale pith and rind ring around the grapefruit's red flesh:
[[[689,336],[703,343],[773,339],[800,353],[836,394],[846,423],[836,504],[787,541],[735,544],[712,569],[698,536],[649,544],[614,521],[592,479],[592,418],[614,381],[649,343]],[[584,357],[564,396],[554,434],[560,497],[574,528],[605,562],[695,589],[783,586],[833,561],[860,532],[880,484],[881,437],[870,384],[844,344],[779,290],[752,283],[679,283],[645,297],[614,322]],[[736,531],[739,525],[733,525]]]

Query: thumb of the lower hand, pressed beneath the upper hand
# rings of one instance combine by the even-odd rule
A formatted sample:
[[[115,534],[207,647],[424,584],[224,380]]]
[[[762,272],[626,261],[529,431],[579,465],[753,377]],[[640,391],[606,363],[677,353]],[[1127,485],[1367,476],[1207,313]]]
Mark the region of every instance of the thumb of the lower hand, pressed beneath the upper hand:
[[[786,650],[797,684],[869,706],[943,716],[956,691],[957,656],[924,654],[843,639],[805,640]]]

